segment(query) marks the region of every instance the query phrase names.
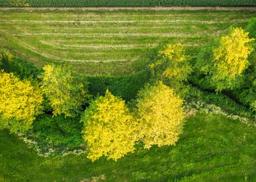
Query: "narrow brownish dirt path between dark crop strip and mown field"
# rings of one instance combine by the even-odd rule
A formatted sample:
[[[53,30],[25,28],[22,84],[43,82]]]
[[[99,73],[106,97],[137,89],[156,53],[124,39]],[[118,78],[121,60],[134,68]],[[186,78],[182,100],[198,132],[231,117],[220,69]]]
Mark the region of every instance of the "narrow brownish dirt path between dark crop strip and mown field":
[[[256,10],[253,7],[0,7],[0,10]]]

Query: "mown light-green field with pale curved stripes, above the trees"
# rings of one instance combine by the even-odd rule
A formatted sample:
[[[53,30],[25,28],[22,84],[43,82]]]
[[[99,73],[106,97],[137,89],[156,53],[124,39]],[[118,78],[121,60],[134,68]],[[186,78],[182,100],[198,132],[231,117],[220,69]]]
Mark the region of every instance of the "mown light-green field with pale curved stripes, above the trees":
[[[0,11],[0,47],[37,66],[70,62],[90,75],[124,75],[148,63],[159,43],[195,52],[231,27],[246,27],[253,11],[76,10]]]

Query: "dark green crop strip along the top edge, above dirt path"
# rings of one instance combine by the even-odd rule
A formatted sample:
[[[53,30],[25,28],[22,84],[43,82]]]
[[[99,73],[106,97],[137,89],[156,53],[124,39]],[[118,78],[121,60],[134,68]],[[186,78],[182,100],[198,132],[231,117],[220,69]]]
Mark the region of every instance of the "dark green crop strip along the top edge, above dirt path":
[[[10,6],[0,0],[0,6]],[[256,6],[255,0],[24,0],[31,6]]]

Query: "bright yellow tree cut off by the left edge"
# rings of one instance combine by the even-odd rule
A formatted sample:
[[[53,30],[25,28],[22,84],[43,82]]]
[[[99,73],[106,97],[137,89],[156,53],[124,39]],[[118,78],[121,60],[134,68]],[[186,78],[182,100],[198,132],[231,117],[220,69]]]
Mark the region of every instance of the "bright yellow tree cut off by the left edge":
[[[35,115],[41,113],[42,94],[29,81],[20,81],[13,73],[0,72],[0,128],[10,132],[27,131]]]

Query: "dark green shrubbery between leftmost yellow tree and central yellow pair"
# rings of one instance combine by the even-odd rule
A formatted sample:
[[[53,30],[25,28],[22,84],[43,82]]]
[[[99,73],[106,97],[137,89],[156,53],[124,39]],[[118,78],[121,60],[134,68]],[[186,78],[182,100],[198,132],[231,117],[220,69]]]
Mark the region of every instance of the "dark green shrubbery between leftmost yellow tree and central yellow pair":
[[[57,151],[63,149],[79,148],[84,140],[82,138],[82,126],[80,118],[69,118],[58,115],[52,117],[43,114],[33,123],[31,136],[35,137],[42,153],[52,148]]]

